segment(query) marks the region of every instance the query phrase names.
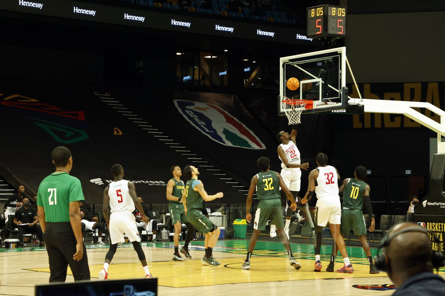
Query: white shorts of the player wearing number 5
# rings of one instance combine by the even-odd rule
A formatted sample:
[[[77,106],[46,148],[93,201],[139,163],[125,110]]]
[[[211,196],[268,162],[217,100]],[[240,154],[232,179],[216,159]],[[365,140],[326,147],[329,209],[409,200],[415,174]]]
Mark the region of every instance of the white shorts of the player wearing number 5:
[[[141,241],[136,218],[130,211],[113,212],[110,215],[109,233],[111,243],[121,244],[125,241],[124,233],[130,241]]]

